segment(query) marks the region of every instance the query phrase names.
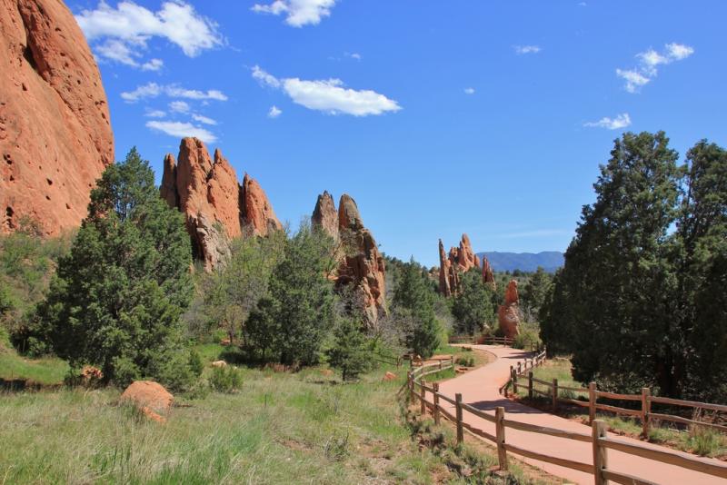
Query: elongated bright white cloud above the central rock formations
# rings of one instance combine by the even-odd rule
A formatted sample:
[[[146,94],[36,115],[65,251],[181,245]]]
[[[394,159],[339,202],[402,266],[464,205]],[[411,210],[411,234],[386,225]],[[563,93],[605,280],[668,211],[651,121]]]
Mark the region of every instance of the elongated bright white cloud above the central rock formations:
[[[368,116],[402,109],[398,103],[383,94],[371,90],[356,91],[345,88],[344,82],[340,79],[322,81],[305,81],[297,77],[278,79],[257,65],[253,68],[253,77],[261,84],[282,89],[295,104],[328,114]]]

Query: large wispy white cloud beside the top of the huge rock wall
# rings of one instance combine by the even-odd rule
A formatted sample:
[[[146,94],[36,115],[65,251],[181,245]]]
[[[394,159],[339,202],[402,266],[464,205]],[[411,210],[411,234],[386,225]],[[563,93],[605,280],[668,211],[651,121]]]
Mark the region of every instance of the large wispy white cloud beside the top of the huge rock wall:
[[[155,13],[128,0],[119,2],[116,8],[102,0],[95,10],[75,15],[75,20],[89,42],[106,39],[104,44],[95,45],[96,54],[121,64],[146,66],[146,70],[157,70],[161,64],[154,59],[138,64],[134,57],[141,57],[140,51],[154,36],[179,46],[190,57],[223,44],[217,25],[182,0],[164,2]]]

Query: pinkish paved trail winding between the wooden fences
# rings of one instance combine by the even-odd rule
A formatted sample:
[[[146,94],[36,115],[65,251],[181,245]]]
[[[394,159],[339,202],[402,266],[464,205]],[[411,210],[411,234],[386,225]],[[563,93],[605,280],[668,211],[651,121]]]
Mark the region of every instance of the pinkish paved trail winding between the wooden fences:
[[[489,351],[497,357],[497,360],[479,369],[455,377],[450,381],[442,382],[439,389],[444,395],[454,399],[454,394],[459,392],[462,394],[462,399],[465,403],[483,411],[491,411],[493,415],[496,407],[503,406],[505,409],[505,417],[512,419],[513,421],[529,422],[565,431],[591,433],[590,426],[523,406],[523,404],[506,400],[502,395],[500,395],[498,389],[509,379],[510,366],[513,364],[517,365],[518,361],[522,361],[525,357],[529,356],[530,354],[528,352],[490,345],[473,345],[473,348]],[[449,405],[446,401],[440,402],[443,405],[450,406],[452,409],[448,411],[454,413],[453,406]],[[483,431],[487,431],[490,434],[495,433],[493,423],[485,421],[482,418],[477,418],[467,412],[464,412],[464,421]],[[609,436],[613,437],[611,433],[609,433]],[[466,439],[467,438],[465,438],[465,440]],[[469,437],[469,439],[473,438]],[[582,461],[583,463],[593,463],[593,448],[591,443],[564,440],[563,438],[556,438],[554,436],[526,431],[517,431],[511,428],[506,429],[505,440],[513,444],[513,446],[518,446],[526,450],[533,450],[569,460]],[[643,446],[651,447],[655,450],[668,450],[645,441],[632,440],[630,438],[617,437],[617,440],[638,443]],[[543,461],[531,459],[523,460],[555,476],[562,477],[563,479],[572,480],[575,483],[593,484],[593,475],[591,474],[577,470],[570,470],[550,463],[545,463]],[[685,470],[673,465],[660,463],[658,461],[627,455],[619,451],[609,450],[608,460],[609,469],[611,470],[628,473],[659,484],[727,484],[727,480],[722,480],[717,477],[712,477],[692,470]],[[719,463],[718,460],[712,461]]]

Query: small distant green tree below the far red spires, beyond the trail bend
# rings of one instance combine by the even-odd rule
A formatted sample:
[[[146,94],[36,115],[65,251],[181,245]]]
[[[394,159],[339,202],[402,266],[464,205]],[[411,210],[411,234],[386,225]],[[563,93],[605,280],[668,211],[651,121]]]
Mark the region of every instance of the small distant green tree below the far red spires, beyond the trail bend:
[[[454,297],[452,314],[458,333],[474,335],[494,321],[492,290],[483,284],[481,272],[475,268],[462,276],[462,292]]]

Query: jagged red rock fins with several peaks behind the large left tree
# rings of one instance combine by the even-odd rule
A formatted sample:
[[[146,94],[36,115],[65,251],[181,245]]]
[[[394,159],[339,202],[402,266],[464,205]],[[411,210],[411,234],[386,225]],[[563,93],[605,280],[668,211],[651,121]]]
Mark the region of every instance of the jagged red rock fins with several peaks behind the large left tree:
[[[241,187],[223,154],[215,150],[211,159],[196,138],[182,140],[178,163],[164,157],[160,195],[185,214],[194,255],[207,270],[229,257],[230,239],[283,227],[260,185],[245,174]]]

